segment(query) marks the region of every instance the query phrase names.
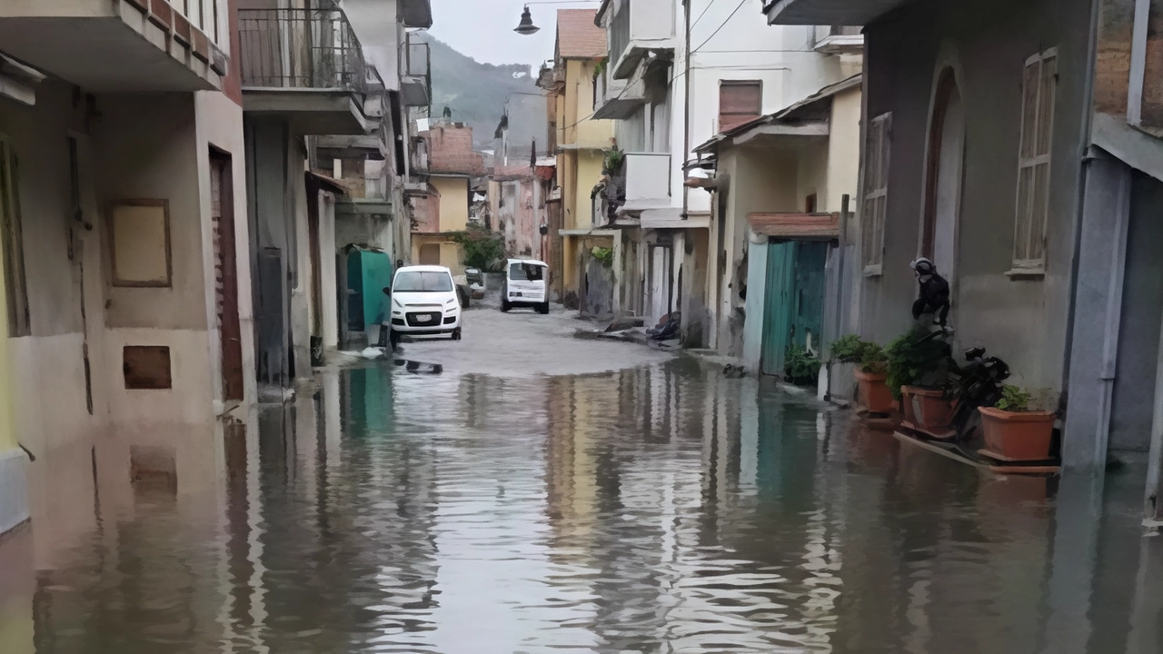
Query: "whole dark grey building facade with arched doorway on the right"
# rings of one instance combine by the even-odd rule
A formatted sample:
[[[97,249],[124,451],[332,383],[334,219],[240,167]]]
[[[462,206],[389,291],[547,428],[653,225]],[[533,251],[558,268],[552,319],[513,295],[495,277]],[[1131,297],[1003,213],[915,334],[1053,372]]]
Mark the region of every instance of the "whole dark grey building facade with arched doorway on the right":
[[[854,330],[906,329],[907,261],[930,256],[959,344],[1059,412],[1068,470],[1151,452],[1157,519],[1161,3],[780,0],[768,15],[864,26]]]

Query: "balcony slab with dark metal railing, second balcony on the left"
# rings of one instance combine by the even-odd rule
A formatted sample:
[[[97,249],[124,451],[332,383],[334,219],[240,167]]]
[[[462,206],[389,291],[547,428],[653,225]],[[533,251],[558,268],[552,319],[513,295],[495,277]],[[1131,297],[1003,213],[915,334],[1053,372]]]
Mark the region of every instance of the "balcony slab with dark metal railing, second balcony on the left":
[[[368,134],[363,47],[341,9],[240,9],[243,111],[298,134]]]

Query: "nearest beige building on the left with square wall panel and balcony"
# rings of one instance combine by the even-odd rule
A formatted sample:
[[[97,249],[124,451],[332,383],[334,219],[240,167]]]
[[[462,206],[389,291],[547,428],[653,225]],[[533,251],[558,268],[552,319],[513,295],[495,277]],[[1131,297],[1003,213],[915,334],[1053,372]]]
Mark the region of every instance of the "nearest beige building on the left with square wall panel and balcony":
[[[0,532],[85,528],[64,481],[110,479],[114,514],[134,477],[219,478],[256,398],[236,26],[227,0],[0,8]]]

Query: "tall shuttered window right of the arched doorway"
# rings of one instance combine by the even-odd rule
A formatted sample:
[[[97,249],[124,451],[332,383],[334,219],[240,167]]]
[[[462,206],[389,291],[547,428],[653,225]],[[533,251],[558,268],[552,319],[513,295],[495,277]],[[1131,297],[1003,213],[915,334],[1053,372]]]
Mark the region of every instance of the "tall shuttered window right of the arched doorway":
[[[1057,78],[1057,49],[1026,61],[1011,272],[1039,273],[1046,270],[1046,220],[1050,208],[1050,144],[1054,140]]]

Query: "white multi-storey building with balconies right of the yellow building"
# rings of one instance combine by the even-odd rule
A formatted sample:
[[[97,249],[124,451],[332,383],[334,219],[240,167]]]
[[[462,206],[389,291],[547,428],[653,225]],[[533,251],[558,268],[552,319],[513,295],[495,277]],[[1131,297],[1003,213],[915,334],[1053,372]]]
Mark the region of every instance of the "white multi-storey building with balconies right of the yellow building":
[[[605,0],[598,10],[611,55],[594,81],[594,118],[618,121],[625,152],[614,176],[625,189],[625,201],[614,200],[623,228],[620,306],[648,322],[682,311],[688,346],[713,332],[723,251],[714,196],[684,185],[692,149],[859,70],[861,36],[769,27],[758,9]]]

